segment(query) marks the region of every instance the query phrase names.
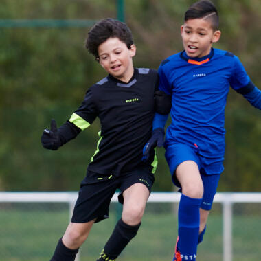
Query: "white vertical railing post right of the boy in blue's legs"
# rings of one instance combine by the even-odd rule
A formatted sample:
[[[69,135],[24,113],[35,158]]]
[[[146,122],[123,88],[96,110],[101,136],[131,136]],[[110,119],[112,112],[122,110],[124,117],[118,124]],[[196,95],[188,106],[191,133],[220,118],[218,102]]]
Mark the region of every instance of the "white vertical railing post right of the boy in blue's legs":
[[[223,202],[223,260],[232,261],[232,203],[228,195]]]

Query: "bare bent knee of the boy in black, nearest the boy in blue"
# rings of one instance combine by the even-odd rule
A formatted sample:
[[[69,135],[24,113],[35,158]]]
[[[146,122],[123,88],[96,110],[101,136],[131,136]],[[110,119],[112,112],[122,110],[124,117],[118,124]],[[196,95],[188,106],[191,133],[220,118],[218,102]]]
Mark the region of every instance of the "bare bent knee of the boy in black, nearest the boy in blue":
[[[137,225],[141,222],[144,214],[144,207],[132,205],[122,212],[122,220],[128,225]]]

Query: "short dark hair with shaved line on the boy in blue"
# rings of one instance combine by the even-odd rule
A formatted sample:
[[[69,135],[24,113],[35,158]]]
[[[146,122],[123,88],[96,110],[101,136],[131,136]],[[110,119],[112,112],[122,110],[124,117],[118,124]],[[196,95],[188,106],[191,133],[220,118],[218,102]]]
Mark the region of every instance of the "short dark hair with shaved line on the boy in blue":
[[[185,12],[184,21],[204,17],[211,21],[214,31],[218,30],[218,10],[216,10],[214,3],[208,0],[201,0],[191,5],[187,12]]]

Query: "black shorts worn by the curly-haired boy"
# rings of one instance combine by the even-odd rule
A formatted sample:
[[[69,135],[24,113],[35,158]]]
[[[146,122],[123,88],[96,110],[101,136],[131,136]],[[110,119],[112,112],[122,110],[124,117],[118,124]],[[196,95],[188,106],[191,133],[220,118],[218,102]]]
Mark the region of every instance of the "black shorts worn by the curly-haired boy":
[[[95,219],[97,223],[109,218],[109,205],[115,191],[120,190],[118,201],[123,204],[122,193],[135,183],[143,183],[150,191],[154,175],[147,169],[133,170],[119,177],[88,171],[80,184],[71,222],[86,223]]]

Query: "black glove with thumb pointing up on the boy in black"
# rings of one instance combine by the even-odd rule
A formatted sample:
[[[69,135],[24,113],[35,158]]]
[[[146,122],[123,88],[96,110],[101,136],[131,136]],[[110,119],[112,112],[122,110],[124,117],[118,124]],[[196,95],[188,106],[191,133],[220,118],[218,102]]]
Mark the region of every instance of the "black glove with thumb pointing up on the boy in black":
[[[56,121],[54,119],[51,120],[51,130],[48,130],[47,128],[43,130],[41,142],[43,147],[48,148],[49,150],[58,150],[58,148],[62,146],[60,135],[57,131]]]

